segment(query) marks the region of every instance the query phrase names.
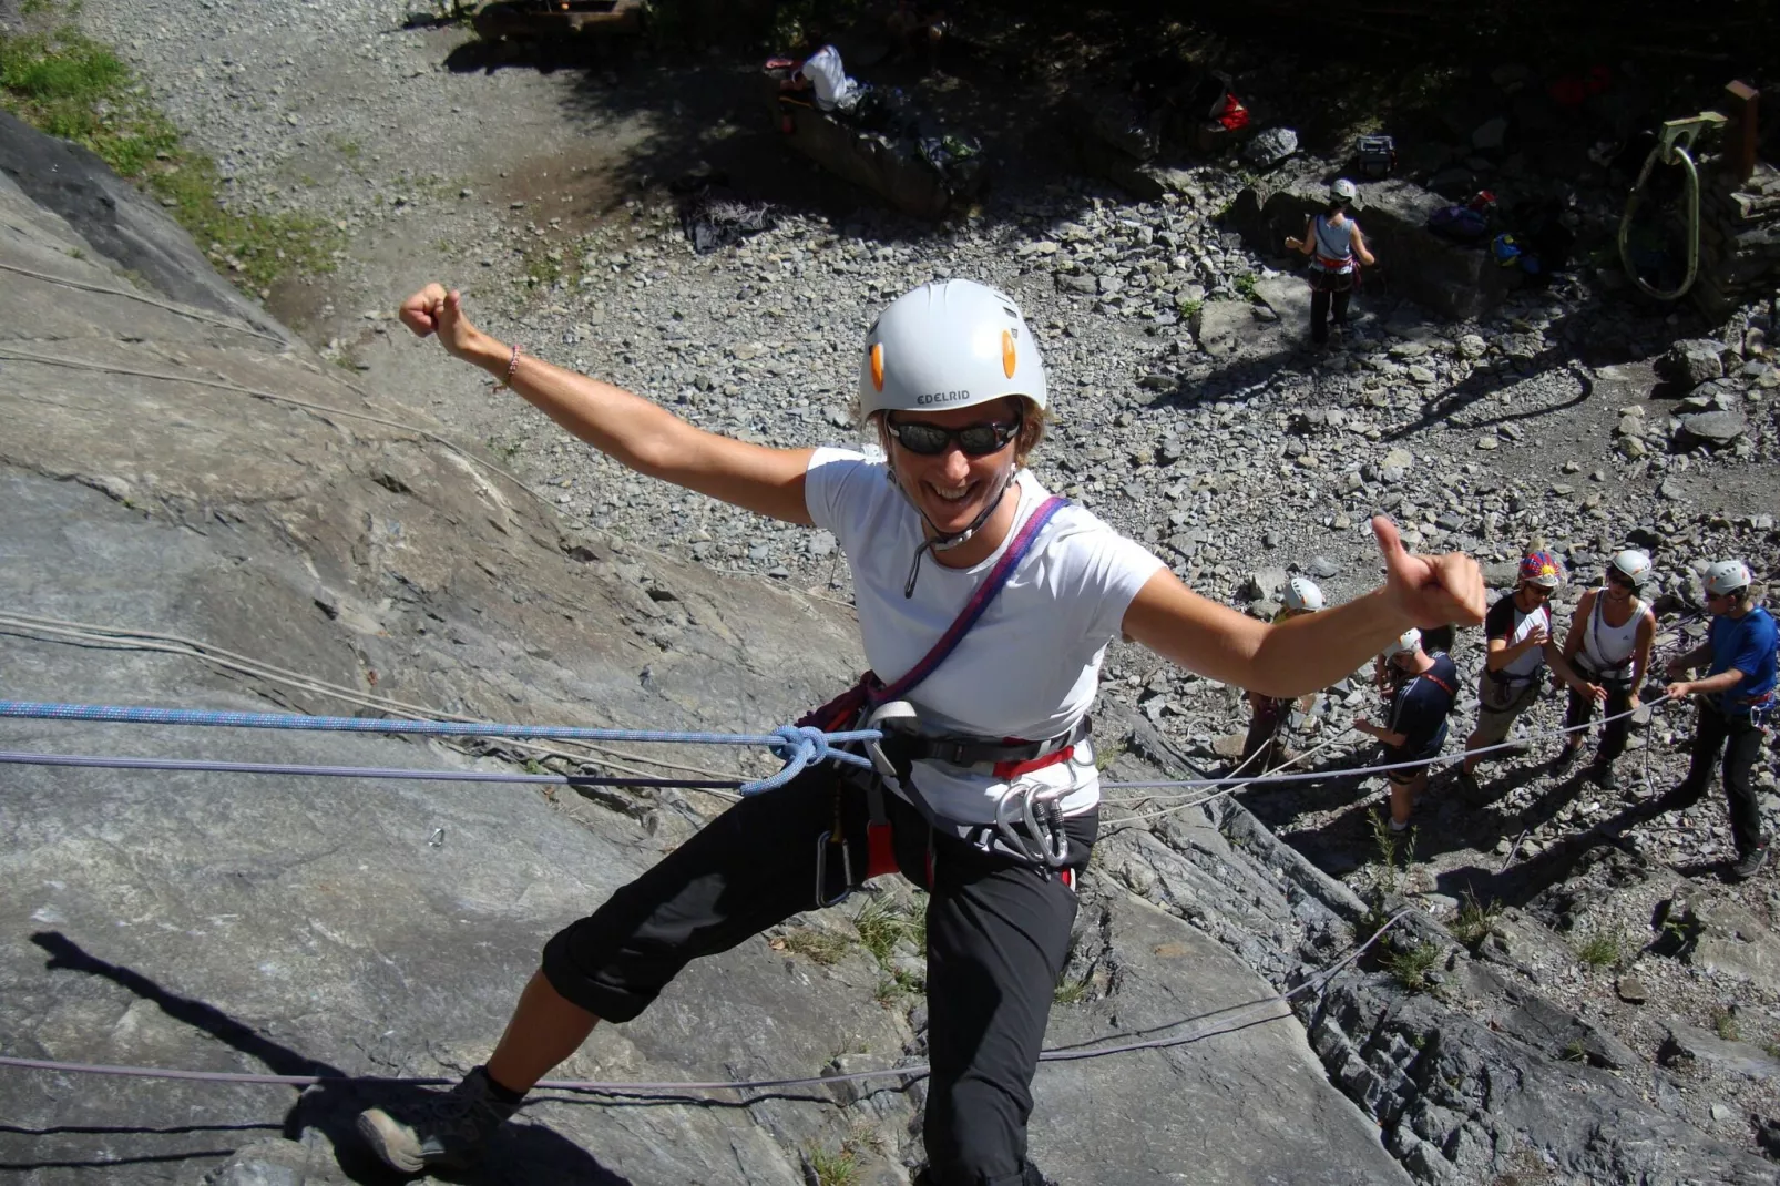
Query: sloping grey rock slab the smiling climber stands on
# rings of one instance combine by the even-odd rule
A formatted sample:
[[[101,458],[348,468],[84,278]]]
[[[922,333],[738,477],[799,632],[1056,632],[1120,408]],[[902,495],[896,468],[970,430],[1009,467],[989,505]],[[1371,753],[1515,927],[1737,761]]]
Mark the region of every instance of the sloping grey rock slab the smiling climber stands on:
[[[735,730],[789,719],[856,670],[844,613],[568,531],[472,451],[429,435],[424,413],[370,404],[304,347],[132,299],[101,253],[73,256],[82,240],[68,223],[11,183],[0,215],[0,264],[48,278],[0,285],[0,600],[228,648],[205,661],[166,650],[183,645],[71,645],[9,625],[7,696],[331,714],[402,702]],[[41,721],[0,725],[0,748],[438,771],[539,757],[370,734]],[[634,750],[586,759],[659,773]],[[675,757],[719,773],[737,760]],[[486,1056],[543,938],[721,807],[676,791],[7,768],[0,1051],[459,1074]],[[1241,876],[1267,881],[1202,832]],[[851,935],[856,910],[794,922]],[[596,1031],[561,1074],[749,1079],[920,1061],[924,1010],[881,1004],[879,965],[844,947],[822,965],[769,937],[742,944],[691,969],[639,1022]],[[1047,1065],[1040,1163],[1072,1182],[1168,1182],[1182,1166],[1205,1182],[1408,1181],[1273,1001],[1269,978],[1290,967],[1278,951],[1257,965],[1095,878],[1072,963],[1095,988],[1057,1006],[1052,1044],[1182,1042]],[[351,1118],[392,1090],[7,1070],[0,1161],[32,1181],[78,1177],[55,1168],[69,1165],[101,1166],[107,1182],[383,1181]],[[865,1133],[860,1181],[906,1182],[920,1093],[899,1079],[716,1104],[545,1093],[502,1134],[491,1179],[790,1186],[812,1181],[812,1150]]]

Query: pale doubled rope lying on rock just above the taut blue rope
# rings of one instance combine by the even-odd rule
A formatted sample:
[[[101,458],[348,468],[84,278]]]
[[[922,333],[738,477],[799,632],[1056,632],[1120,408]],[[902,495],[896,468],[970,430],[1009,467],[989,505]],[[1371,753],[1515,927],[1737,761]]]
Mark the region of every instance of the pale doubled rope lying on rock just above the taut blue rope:
[[[249,655],[242,655],[239,652],[215,646],[214,643],[205,643],[178,634],[158,634],[153,630],[105,627],[85,621],[66,621],[61,618],[41,618],[37,614],[18,614],[18,613],[0,611],[0,632],[5,632],[7,629],[27,630],[30,634],[48,636],[52,639],[69,639],[73,643],[93,643],[100,646],[114,646],[125,650],[146,650],[169,655],[185,655],[190,659],[199,659],[203,662],[208,662],[224,671],[237,671],[240,675],[249,675],[253,678],[263,678],[276,684],[285,684],[287,687],[295,687],[299,691],[306,691],[317,696],[331,696],[335,700],[340,700],[344,703],[352,703],[361,709],[392,712],[413,719],[427,719],[427,718],[438,718],[445,721],[475,719],[457,712],[441,712],[436,709],[429,709],[425,705],[404,703],[390,696],[372,696],[368,693],[361,693],[358,689],[345,687],[342,684],[331,684],[328,680],[303,675],[299,671],[290,671],[285,668],[276,668],[272,664],[258,662]],[[724,771],[707,769],[703,766],[687,766],[684,762],[668,762],[643,753],[612,750],[609,746],[598,746],[591,743],[570,743],[575,746],[575,750],[564,750],[559,746],[538,744],[523,739],[509,739],[509,741],[520,750],[529,750],[543,757],[561,757],[570,762],[584,762],[589,755],[593,755],[611,769],[639,776],[646,776],[646,773],[635,769],[634,766],[627,766],[627,762],[641,762],[653,769],[668,769],[682,775],[701,775],[707,780],[728,778]]]

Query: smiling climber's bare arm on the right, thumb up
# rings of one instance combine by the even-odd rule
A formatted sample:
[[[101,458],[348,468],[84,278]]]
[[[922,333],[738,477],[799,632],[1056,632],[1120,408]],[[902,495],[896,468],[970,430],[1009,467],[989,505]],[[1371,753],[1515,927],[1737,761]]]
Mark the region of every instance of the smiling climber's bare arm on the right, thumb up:
[[[1483,620],[1483,573],[1468,556],[1412,556],[1385,516],[1372,520],[1385,586],[1287,621],[1255,621],[1200,597],[1166,568],[1125,611],[1125,634],[1180,666],[1264,696],[1317,691],[1362,666],[1412,625]]]

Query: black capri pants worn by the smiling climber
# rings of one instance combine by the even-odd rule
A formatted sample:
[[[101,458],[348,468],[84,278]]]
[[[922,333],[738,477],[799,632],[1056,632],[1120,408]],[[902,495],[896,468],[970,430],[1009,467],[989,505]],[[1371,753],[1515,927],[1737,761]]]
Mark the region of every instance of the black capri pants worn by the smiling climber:
[[[625,1022],[703,954],[821,905],[817,846],[837,796],[853,869],[867,869],[865,792],[822,766],[742,800],[559,931],[543,972],[566,999]],[[1068,821],[1070,878],[938,833],[886,794],[902,874],[927,899],[927,1088],[924,1138],[934,1186],[1018,1186],[1032,1074],[1075,922],[1075,874],[1088,864],[1098,812]],[[824,846],[826,848],[826,846]],[[828,860],[831,898],[846,885]]]

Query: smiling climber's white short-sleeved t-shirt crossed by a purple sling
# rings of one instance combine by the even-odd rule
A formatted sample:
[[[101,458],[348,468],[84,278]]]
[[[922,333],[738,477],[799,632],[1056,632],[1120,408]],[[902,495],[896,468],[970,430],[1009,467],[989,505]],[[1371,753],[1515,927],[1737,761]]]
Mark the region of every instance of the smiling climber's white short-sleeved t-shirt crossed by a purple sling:
[[[1048,499],[1022,472],[1020,499],[1007,543]],[[888,481],[883,459],[846,449],[817,449],[810,458],[805,502],[817,527],[840,541],[853,570],[865,657],[886,684],[920,662],[983,584],[1002,548],[970,568],[924,557],[911,598],[902,597],[922,522]],[[1059,509],[1007,577],[995,600],[910,702],[922,732],[1040,741],[1066,734],[1093,705],[1100,661],[1120,634],[1137,589],[1162,568],[1139,543],[1079,506]],[[917,762],[915,784],[936,812],[961,823],[990,823],[1006,784],[990,766]],[[1068,762],[1027,780],[1068,785],[1064,814],[1100,801],[1093,748],[1079,744]]]

